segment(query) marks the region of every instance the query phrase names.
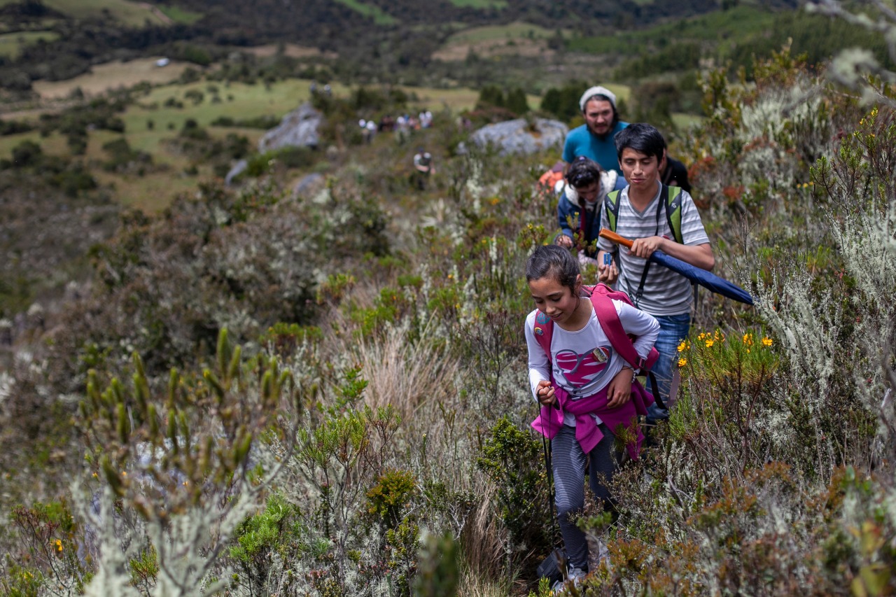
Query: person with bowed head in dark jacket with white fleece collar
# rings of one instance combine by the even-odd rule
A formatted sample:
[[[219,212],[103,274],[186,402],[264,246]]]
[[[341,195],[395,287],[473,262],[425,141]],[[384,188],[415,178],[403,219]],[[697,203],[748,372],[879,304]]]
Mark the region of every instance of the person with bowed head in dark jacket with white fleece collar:
[[[554,243],[564,248],[575,247],[580,263],[597,265],[597,240],[600,232],[600,208],[607,193],[616,186],[619,175],[604,171],[597,162],[581,156],[573,160],[560,186],[557,222],[560,233]]]

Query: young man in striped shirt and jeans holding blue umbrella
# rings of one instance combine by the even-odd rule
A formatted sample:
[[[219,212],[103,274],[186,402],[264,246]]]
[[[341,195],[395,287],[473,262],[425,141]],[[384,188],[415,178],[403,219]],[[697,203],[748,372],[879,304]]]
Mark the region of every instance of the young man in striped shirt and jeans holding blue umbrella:
[[[663,135],[651,125],[630,125],[616,135],[616,151],[628,186],[607,195],[601,220],[605,228],[635,240],[630,250],[617,252],[612,242],[599,239],[599,281],[615,284],[632,297],[635,306],[659,321],[660,356],[652,370],[662,402],[668,404],[677,346],[690,332],[694,299],[687,278],[665,267],[651,266],[647,259],[661,249],[688,264],[711,270],[715,257],[691,195],[659,181],[666,151]],[[615,255],[612,264],[604,264],[605,253]],[[660,419],[668,419],[668,411],[652,406],[648,423]]]

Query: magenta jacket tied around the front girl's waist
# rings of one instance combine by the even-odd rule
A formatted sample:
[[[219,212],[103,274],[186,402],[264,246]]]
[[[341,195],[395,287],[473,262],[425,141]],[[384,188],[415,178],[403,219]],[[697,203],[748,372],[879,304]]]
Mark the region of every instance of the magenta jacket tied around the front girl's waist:
[[[645,390],[639,381],[632,384],[632,399],[613,409],[607,408],[606,387],[597,394],[586,396],[580,400],[571,400],[569,393],[555,385],[554,395],[559,408],[542,405],[538,418],[532,421],[532,428],[544,437],[554,439],[557,431],[563,427],[564,412],[570,412],[575,415],[575,438],[586,454],[604,438],[604,434],[600,432],[600,428],[594,418],[590,416],[591,414],[598,415],[608,428],[615,430],[619,425],[629,427],[633,421],[637,422],[638,415],[646,415],[647,407],[653,403],[653,395]],[[644,439],[641,427],[637,426],[636,428],[638,430],[637,441],[626,446],[628,454],[633,460],[638,458]]]

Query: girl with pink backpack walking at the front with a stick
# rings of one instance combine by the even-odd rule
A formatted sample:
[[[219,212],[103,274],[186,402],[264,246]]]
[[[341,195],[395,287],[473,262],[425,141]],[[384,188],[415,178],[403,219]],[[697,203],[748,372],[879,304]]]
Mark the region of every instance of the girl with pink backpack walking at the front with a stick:
[[[583,287],[579,264],[563,247],[538,247],[526,264],[526,281],[537,307],[525,324],[529,383],[541,404],[532,427],[551,440],[550,466],[568,562],[566,577],[567,582],[578,584],[589,569],[585,533],[574,522],[584,507],[586,463],[591,491],[612,512],[607,487],[617,468],[616,431],[631,430],[633,439],[625,451],[637,458],[643,439],[638,415],[645,414],[652,402],[640,383],[633,384],[633,365],[622,353],[627,350],[647,360],[659,324],[624,299],[607,295],[602,285],[593,292]],[[616,331],[605,332],[619,324]],[[598,557],[605,558],[606,553]]]

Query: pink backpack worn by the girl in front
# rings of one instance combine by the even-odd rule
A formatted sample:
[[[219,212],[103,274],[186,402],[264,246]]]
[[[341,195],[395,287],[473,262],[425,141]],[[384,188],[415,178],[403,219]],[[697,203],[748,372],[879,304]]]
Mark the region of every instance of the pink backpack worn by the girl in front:
[[[621,300],[628,305],[632,305],[632,299],[628,298],[622,290],[613,290],[607,284],[599,283],[595,286],[583,286],[582,290],[588,293],[591,299],[591,305],[594,306],[594,314],[598,316],[600,328],[607,334],[607,339],[613,346],[614,350],[619,353],[625,361],[633,368],[641,369],[642,373],[647,375],[653,364],[659,359],[659,352],[656,348],[650,348],[647,359],[638,356],[637,350],[634,350],[632,338],[625,333],[622,322],[619,321],[619,314],[616,313],[616,306],[613,299]],[[554,322],[551,318],[538,311],[535,316],[535,339],[547,354],[547,359],[551,359],[551,338],[554,336]],[[656,385],[656,378],[652,373],[649,375],[651,390],[653,390],[653,399],[660,408],[666,408],[659,398],[659,391]]]

